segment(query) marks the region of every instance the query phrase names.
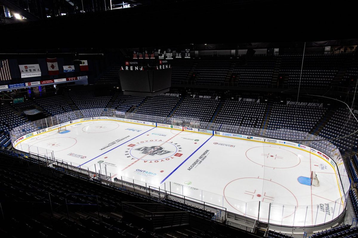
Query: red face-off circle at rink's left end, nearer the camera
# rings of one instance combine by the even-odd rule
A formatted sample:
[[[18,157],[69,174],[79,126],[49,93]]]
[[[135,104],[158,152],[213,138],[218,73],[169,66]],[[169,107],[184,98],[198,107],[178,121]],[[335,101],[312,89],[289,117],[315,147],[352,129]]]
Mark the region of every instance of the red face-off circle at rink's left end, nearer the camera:
[[[58,152],[76,145],[77,140],[72,137],[56,137],[38,141],[29,146],[30,152],[47,155],[50,152]]]

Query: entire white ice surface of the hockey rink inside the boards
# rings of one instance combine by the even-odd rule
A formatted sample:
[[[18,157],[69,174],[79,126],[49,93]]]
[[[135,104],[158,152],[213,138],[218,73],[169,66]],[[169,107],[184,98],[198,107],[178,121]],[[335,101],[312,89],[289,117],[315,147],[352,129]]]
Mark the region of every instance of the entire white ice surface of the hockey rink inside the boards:
[[[344,208],[332,165],[299,148],[111,120],[74,123],[16,149],[284,226],[314,226]],[[310,185],[311,171],[319,186]],[[126,178],[126,179],[125,179]],[[259,211],[260,202],[260,211]],[[269,206],[271,203],[270,217]]]

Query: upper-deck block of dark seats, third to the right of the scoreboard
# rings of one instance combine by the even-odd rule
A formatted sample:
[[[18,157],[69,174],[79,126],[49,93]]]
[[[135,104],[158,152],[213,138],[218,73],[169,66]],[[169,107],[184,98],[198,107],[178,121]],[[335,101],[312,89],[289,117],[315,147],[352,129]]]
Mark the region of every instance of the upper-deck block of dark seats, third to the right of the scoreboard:
[[[268,87],[274,73],[275,59],[266,56],[254,56],[253,59],[237,62],[233,70],[234,82],[241,87]]]

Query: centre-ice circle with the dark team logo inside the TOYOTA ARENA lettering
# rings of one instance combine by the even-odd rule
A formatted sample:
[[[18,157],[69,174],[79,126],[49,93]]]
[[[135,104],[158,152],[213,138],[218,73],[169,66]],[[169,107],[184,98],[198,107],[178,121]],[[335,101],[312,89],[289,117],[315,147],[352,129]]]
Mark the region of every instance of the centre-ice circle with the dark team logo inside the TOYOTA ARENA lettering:
[[[173,143],[163,141],[148,141],[137,144],[128,145],[129,155],[135,159],[142,159],[145,161],[160,161],[170,158],[172,156],[181,156],[177,153],[181,147]],[[179,156],[179,157],[180,157]]]

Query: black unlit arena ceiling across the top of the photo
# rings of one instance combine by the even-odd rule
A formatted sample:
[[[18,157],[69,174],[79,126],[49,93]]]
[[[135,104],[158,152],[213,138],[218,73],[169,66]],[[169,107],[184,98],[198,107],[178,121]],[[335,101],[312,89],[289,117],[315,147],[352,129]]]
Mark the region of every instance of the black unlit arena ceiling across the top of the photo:
[[[9,20],[4,13],[0,15],[1,48],[128,48],[358,38],[356,1],[130,0],[126,8],[117,3],[0,0],[4,9],[26,18]]]

